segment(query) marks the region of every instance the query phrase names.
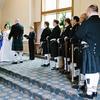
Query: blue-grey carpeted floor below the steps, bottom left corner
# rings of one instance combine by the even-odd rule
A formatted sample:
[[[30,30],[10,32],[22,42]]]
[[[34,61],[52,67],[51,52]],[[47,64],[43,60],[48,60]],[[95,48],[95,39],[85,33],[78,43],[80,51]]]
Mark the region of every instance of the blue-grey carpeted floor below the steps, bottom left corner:
[[[35,98],[12,89],[8,85],[5,85],[3,81],[0,81],[0,100],[35,100]]]

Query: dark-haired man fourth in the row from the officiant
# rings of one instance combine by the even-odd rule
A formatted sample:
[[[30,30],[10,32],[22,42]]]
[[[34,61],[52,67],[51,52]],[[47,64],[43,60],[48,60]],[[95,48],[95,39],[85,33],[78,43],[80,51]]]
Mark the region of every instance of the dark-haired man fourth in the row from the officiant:
[[[70,32],[70,42],[71,42],[71,64],[70,64],[70,70],[71,70],[71,76],[72,76],[72,82],[77,84],[78,74],[79,74],[79,39],[76,37],[76,32],[79,29],[79,17],[73,16],[72,18],[72,30]],[[77,73],[76,73],[77,71]],[[73,84],[73,85],[75,85]],[[73,87],[73,86],[72,86]]]

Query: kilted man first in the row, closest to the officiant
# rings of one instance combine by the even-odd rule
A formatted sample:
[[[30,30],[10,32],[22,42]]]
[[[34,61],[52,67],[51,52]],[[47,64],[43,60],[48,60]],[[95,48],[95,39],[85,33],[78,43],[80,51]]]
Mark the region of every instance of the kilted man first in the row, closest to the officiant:
[[[44,22],[45,29],[41,34],[41,46],[43,48],[43,55],[45,56],[45,60],[43,61],[42,67],[48,67],[50,65],[50,41],[48,37],[51,34],[51,30],[49,28],[49,22]]]

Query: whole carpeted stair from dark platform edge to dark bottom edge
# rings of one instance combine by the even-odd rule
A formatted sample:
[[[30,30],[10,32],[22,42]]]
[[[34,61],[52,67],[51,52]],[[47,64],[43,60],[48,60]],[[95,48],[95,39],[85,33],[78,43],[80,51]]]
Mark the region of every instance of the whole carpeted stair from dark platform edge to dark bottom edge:
[[[12,85],[12,87],[18,88],[25,93],[27,92],[29,95],[38,97],[40,100],[52,100],[51,98],[61,98],[57,100],[66,100],[70,98],[70,100],[73,100],[71,99],[72,97],[75,97],[77,98],[76,100],[78,100],[76,95],[72,96],[71,94],[71,97],[70,93],[66,93],[66,91],[62,91],[59,88],[53,88],[46,83],[41,83],[26,76],[19,75],[18,73],[8,71],[4,68],[0,68],[0,73],[0,77],[7,84]]]

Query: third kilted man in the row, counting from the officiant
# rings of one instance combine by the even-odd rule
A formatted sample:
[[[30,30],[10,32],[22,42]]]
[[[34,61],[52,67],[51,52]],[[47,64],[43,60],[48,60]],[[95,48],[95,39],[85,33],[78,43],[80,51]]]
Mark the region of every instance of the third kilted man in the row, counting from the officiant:
[[[71,21],[69,18],[66,18],[64,21],[65,28],[63,32],[60,35],[60,45],[61,45],[61,52],[60,56],[64,58],[64,68],[61,69],[61,72],[67,72],[68,71],[68,63],[70,62],[70,53],[69,53],[69,48],[70,48],[70,42],[69,42],[69,37],[70,37],[70,31],[72,28]]]

